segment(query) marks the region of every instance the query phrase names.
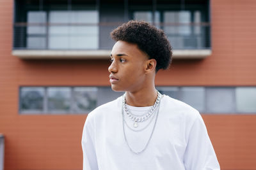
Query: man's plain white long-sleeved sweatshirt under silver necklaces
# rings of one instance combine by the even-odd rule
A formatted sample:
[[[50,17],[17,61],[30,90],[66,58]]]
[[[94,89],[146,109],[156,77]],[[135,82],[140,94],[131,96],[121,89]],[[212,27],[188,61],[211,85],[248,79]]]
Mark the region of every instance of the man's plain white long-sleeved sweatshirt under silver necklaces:
[[[149,107],[132,107],[135,115]],[[197,110],[169,96],[163,96],[158,116],[139,124],[134,132],[132,121],[122,118],[122,97],[99,106],[88,114],[83,129],[83,170],[210,170],[220,169],[207,134],[204,120]],[[154,128],[154,122],[156,127]],[[123,129],[124,124],[124,129]],[[132,128],[135,129],[135,128]],[[147,148],[139,154],[131,152]],[[127,146],[124,138],[124,131]]]

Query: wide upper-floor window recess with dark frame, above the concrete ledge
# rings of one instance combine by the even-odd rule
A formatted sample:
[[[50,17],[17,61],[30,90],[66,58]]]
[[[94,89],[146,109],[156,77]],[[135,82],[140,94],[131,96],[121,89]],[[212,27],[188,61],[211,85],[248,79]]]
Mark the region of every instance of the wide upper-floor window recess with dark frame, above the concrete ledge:
[[[136,19],[163,29],[175,50],[209,49],[209,18],[209,0],[15,0],[13,48],[109,50],[109,32]]]

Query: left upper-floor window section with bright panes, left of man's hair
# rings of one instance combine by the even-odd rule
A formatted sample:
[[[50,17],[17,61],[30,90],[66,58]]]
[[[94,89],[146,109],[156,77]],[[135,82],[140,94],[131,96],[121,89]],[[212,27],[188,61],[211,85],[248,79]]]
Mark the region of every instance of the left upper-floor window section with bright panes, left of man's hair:
[[[99,11],[95,1],[15,1],[15,49],[99,48]]]

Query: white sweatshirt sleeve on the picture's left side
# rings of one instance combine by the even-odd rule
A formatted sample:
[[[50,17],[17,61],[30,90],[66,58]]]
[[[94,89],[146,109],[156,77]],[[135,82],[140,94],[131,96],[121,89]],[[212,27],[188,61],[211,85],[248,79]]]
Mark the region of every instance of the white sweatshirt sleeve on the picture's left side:
[[[90,115],[90,113],[89,113]],[[83,170],[97,170],[97,155],[95,153],[94,129],[90,116],[86,118],[82,136]]]

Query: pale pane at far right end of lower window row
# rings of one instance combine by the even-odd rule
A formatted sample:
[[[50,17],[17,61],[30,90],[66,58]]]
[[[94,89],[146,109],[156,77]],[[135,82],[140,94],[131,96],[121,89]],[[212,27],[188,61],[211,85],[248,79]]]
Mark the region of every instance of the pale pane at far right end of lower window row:
[[[256,113],[256,88],[236,88],[236,109],[241,113]]]

